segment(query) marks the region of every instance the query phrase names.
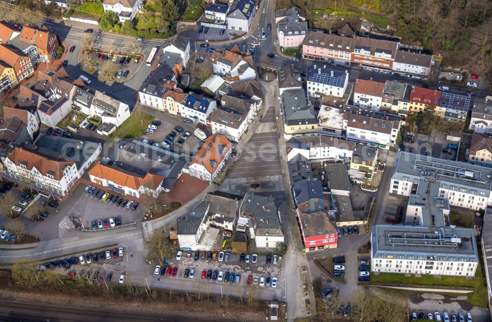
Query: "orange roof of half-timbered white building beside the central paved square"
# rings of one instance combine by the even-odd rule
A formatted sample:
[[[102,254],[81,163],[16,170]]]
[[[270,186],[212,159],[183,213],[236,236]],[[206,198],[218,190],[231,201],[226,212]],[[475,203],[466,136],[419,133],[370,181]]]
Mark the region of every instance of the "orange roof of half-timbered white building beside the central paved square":
[[[222,149],[222,154],[220,154],[220,150]],[[220,162],[222,162],[231,149],[232,143],[224,135],[214,133],[205,141],[189,165],[195,163],[201,164],[207,171],[214,173]]]

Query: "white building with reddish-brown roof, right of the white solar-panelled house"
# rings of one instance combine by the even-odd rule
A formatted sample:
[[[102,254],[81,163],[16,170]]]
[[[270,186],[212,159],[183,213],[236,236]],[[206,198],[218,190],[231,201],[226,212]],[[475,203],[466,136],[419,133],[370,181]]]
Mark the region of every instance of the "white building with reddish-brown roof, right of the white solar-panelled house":
[[[365,79],[356,79],[354,87],[354,105],[379,111],[383,101],[385,83]]]

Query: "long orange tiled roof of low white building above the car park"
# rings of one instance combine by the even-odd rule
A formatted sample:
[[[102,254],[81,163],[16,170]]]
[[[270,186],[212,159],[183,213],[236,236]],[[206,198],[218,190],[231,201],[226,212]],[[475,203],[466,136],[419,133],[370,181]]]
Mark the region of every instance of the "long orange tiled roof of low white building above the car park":
[[[164,181],[164,177],[158,174],[147,172],[142,178],[130,172],[102,164],[101,162],[97,162],[97,164],[89,170],[89,174],[134,190],[138,190],[141,186],[155,190],[162,181]]]

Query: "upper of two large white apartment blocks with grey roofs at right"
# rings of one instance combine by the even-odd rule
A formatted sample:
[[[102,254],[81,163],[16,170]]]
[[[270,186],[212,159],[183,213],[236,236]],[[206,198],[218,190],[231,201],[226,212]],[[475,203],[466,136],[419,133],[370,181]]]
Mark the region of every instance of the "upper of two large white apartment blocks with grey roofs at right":
[[[431,196],[447,198],[451,206],[478,211],[492,205],[491,168],[399,152],[390,193],[409,196],[421,185]]]

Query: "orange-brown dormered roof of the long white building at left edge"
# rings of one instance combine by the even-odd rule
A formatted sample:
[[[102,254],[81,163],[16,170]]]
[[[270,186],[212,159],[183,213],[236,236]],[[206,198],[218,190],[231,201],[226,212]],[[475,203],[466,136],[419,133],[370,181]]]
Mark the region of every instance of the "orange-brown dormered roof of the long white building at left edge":
[[[54,159],[51,157],[47,157],[39,153],[37,148],[28,149],[24,145],[16,147],[10,154],[8,158],[14,162],[17,166],[20,166],[21,162],[26,166],[28,170],[32,170],[32,168],[36,168],[41,172],[44,176],[48,174],[48,172],[52,171],[50,174],[53,175],[55,180],[60,180],[63,177],[63,169],[66,166],[73,165],[74,161],[66,161],[62,157],[60,159]]]

